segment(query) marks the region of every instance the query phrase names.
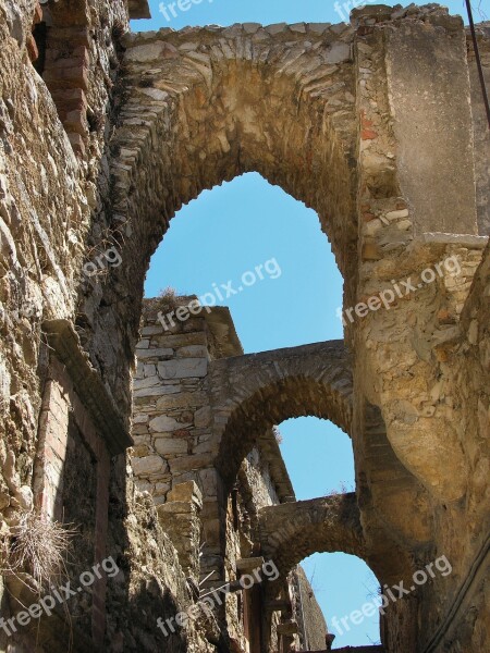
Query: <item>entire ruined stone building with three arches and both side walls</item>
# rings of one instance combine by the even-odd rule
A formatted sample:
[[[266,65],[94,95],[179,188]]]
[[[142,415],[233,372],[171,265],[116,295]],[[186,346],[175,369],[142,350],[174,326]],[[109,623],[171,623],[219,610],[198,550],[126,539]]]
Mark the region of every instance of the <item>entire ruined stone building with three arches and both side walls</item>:
[[[359,651],[488,651],[490,137],[462,19],[130,32],[148,15],[0,0],[0,650],[324,651],[298,564],[344,552],[408,589]],[[318,213],[343,341],[244,355],[226,308],[175,298],[166,329],[143,301],[170,219],[250,171]],[[273,427],[299,416],[350,435],[354,493],[295,500]],[[57,522],[66,601],[33,563]]]

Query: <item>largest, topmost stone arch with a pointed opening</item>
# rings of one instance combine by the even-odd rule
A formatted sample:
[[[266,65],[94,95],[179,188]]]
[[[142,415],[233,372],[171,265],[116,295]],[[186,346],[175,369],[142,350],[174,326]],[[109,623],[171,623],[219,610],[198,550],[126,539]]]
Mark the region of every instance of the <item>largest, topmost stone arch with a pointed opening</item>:
[[[97,338],[87,344],[95,359],[112,358],[105,360],[108,381],[123,401],[127,371],[118,350],[125,357],[134,350],[150,256],[174,213],[206,188],[256,171],[314,208],[352,289],[353,37],[346,25],[281,26],[279,33],[235,25],[127,37],[127,100],[111,141],[113,210],[106,226],[125,225],[130,237],[121,243],[124,264],[110,270],[103,287],[86,288],[79,311],[93,332],[103,332],[110,310],[96,309],[118,305],[127,326],[111,343],[113,355]]]

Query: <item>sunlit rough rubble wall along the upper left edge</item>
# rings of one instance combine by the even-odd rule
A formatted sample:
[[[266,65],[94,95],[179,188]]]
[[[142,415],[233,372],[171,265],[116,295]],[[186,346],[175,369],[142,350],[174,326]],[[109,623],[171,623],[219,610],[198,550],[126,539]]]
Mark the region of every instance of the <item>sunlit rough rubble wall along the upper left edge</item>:
[[[88,3],[78,2],[73,13],[68,4],[74,3],[59,2],[52,10],[60,13],[60,21],[68,23],[66,29],[78,28],[78,13],[85,16],[81,29],[89,41],[86,52],[89,65],[84,84],[89,89],[91,109],[105,115],[112,86],[110,75],[114,74],[108,63],[108,53],[114,50],[111,27],[119,21],[127,25],[126,7],[123,1],[99,2],[91,3],[90,10]],[[39,7],[34,0],[3,2],[1,16],[4,344],[0,360],[0,407],[8,446],[21,456],[19,469],[28,480],[40,407],[40,380],[36,374],[40,324],[44,319],[74,315],[90,209],[96,201],[94,182],[100,181],[99,171],[103,169],[106,135],[102,121],[101,128],[87,136],[90,159],[74,156],[51,93],[32,65],[30,58],[35,54],[27,50]],[[66,38],[69,32],[64,33]]]

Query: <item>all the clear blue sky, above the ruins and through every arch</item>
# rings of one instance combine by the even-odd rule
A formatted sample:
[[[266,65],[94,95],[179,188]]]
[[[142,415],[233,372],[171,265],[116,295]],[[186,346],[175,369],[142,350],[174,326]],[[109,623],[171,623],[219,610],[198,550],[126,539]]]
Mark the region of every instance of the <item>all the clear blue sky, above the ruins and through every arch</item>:
[[[176,17],[168,10],[170,21],[159,12],[159,2],[150,4],[154,19],[133,22],[134,30],[342,21],[333,2],[324,0],[203,0],[188,11],[175,9]],[[464,13],[462,1],[446,4],[452,13]],[[476,20],[480,20],[477,12]],[[262,280],[255,273],[256,283],[248,287],[241,283],[244,273],[254,273],[267,261]],[[274,273],[268,274],[267,269]],[[216,296],[216,288],[230,287],[230,281],[234,289],[242,286],[243,291],[218,303],[230,307],[246,353],[342,337],[335,316],[342,304],[342,279],[317,214],[258,174],[206,190],[179,212],[152,258],[145,292],[151,297],[171,286],[180,294],[212,292]],[[298,498],[322,496],[341,484],[354,488],[351,442],[333,424],[314,418],[289,420],[281,432]],[[328,620],[359,609],[376,591],[376,578],[353,556],[317,554],[304,567]],[[378,639],[375,617],[353,626],[334,645]]]

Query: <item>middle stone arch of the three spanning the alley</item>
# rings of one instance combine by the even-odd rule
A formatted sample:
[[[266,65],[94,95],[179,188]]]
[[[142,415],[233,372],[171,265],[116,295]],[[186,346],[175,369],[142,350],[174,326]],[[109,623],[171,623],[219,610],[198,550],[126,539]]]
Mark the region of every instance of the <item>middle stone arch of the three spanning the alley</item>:
[[[315,416],[350,433],[352,374],[342,341],[212,364],[217,468],[229,486],[257,438],[292,417]]]

